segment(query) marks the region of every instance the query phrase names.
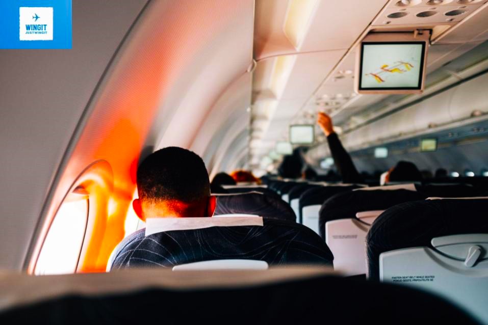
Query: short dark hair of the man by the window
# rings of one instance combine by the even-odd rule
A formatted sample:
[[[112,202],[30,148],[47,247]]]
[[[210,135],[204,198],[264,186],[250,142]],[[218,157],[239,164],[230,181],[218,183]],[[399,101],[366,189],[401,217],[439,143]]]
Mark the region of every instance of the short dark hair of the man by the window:
[[[210,196],[209,173],[193,151],[166,147],[147,156],[137,169],[142,201],[196,202]]]

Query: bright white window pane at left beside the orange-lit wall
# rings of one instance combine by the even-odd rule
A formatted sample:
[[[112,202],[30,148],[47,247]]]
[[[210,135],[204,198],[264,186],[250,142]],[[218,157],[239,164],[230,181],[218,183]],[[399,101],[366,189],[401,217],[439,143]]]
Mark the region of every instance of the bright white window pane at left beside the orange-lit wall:
[[[88,223],[87,196],[69,196],[61,204],[42,245],[36,275],[75,273]]]

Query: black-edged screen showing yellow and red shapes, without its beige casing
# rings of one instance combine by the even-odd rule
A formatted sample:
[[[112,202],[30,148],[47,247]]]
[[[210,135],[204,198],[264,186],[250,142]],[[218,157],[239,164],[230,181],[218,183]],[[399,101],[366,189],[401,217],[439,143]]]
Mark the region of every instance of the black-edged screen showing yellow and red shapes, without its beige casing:
[[[363,43],[359,90],[421,89],[425,42]]]

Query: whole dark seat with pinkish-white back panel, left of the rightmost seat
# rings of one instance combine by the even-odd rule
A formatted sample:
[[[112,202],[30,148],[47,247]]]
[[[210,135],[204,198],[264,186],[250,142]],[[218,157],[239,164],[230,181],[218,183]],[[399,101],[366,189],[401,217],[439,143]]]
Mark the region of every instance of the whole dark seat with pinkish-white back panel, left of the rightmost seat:
[[[366,274],[366,234],[378,215],[395,204],[426,198],[408,189],[384,188],[340,193],[320,208],[320,235],[334,254],[335,269],[346,275]]]

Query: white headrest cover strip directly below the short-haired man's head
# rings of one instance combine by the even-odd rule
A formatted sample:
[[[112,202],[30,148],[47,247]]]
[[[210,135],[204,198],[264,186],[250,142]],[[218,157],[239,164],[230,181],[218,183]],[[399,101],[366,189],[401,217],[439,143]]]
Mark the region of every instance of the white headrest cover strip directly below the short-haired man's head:
[[[164,231],[203,229],[210,227],[263,226],[261,216],[234,216],[232,218],[149,218],[145,235]]]

